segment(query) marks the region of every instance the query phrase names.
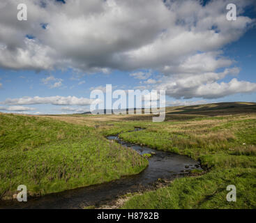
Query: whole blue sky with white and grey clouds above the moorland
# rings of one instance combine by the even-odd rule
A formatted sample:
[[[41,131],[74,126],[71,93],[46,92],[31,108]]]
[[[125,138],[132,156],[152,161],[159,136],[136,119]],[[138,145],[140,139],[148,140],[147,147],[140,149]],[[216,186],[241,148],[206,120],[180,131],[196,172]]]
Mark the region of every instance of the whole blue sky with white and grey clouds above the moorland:
[[[166,105],[256,102],[256,1],[0,3],[0,112],[89,111],[94,89],[165,89]]]

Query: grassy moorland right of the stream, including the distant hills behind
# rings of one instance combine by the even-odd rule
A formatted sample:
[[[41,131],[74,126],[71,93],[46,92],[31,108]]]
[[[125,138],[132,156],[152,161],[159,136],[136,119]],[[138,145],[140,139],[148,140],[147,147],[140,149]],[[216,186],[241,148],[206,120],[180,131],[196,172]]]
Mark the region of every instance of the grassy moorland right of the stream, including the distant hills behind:
[[[255,103],[170,107],[164,123],[146,115],[79,117],[103,135],[122,132],[125,141],[188,155],[206,169],[132,197],[122,208],[256,208]],[[128,132],[134,127],[145,130]],[[227,201],[227,185],[236,186],[236,202]]]

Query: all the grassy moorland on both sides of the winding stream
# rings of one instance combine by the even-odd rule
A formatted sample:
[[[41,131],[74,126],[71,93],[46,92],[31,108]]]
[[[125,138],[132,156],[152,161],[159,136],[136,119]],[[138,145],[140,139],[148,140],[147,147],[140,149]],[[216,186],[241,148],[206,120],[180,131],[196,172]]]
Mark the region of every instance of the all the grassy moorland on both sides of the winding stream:
[[[147,164],[142,157],[104,138],[121,132],[125,141],[187,155],[206,170],[132,197],[122,208],[256,208],[255,103],[169,107],[163,123],[153,123],[152,115],[0,116],[2,193],[13,190],[21,177],[43,194],[111,180],[116,172],[121,176],[141,171]],[[129,132],[134,128],[144,130]],[[18,135],[23,135],[22,142]],[[116,156],[117,149],[121,155]],[[97,160],[96,154],[102,158]],[[64,166],[71,175],[67,181],[58,178],[63,162],[70,164]],[[43,172],[45,166],[51,171]],[[55,177],[51,181],[49,176]],[[236,202],[227,201],[227,185],[236,186]]]

